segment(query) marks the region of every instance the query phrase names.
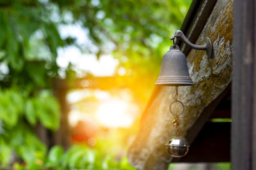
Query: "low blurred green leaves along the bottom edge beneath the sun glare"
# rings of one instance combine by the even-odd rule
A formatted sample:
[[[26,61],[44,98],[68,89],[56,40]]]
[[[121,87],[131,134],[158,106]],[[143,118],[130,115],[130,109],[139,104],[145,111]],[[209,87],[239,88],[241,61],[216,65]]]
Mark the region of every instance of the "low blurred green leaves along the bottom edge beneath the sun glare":
[[[28,156],[29,157],[29,156]],[[33,158],[30,158],[33,162]],[[135,170],[126,157],[120,161],[114,160],[113,155],[104,155],[85,145],[74,145],[63,153],[61,146],[53,146],[47,159],[37,159],[37,164],[15,164],[16,169],[97,169],[97,170]],[[38,161],[42,160],[42,162]],[[38,164],[40,162],[40,164]]]

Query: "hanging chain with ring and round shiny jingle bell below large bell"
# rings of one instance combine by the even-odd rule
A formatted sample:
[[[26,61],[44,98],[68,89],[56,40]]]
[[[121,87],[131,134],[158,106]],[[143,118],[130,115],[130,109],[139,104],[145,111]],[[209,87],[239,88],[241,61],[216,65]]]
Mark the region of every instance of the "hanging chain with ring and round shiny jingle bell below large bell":
[[[181,101],[178,101],[178,87],[176,86],[176,94],[174,101],[170,104],[170,112],[174,116],[172,121],[173,126],[175,127],[175,137],[171,138],[166,143],[167,152],[172,157],[184,157],[188,153],[189,144],[186,138],[179,135],[179,115],[184,113],[184,104]],[[174,113],[172,110],[173,104],[181,104],[182,111]]]

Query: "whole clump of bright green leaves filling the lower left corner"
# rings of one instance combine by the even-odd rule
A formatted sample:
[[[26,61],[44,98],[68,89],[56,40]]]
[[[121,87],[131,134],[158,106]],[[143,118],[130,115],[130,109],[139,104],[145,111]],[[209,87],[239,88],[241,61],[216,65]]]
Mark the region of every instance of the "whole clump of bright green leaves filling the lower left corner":
[[[59,114],[58,102],[49,92],[29,97],[25,92],[20,94],[19,89],[0,90],[0,119],[4,129],[0,135],[1,164],[8,165],[14,152],[29,169],[40,167],[47,150],[32,127],[39,121],[49,129],[58,129]]]

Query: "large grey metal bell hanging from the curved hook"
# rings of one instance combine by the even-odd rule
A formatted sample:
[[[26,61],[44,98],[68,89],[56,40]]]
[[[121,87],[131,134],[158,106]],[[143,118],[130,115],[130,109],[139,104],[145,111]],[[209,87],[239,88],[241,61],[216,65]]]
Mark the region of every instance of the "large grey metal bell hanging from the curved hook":
[[[172,45],[170,50],[164,54],[155,85],[194,85],[188,73],[186,56],[180,52],[179,46]]]

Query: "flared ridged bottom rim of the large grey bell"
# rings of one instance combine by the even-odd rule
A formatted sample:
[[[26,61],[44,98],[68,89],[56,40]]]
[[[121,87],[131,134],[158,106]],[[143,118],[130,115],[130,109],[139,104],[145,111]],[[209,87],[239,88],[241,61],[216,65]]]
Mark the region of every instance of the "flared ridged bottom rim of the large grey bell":
[[[159,86],[186,86],[194,85],[193,81],[189,76],[161,76],[156,80],[155,85]]]

